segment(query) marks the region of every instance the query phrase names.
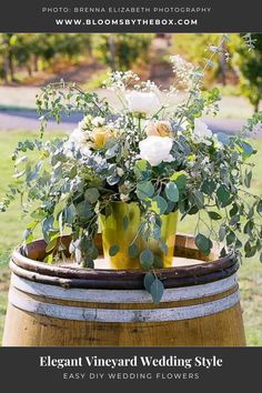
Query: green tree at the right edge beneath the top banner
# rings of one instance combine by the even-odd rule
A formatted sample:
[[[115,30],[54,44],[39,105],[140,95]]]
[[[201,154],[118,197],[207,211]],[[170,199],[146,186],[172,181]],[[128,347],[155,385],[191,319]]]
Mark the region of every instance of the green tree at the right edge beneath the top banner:
[[[252,40],[253,48],[249,48],[242,38],[236,51],[242,92],[254,107],[254,112],[258,112],[262,100],[262,34],[252,34]]]

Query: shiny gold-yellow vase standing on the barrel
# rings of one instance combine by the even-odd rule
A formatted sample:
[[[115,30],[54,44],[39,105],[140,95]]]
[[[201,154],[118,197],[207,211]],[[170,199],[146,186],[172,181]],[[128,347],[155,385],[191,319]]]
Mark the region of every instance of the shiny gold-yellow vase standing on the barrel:
[[[127,228],[124,228],[124,220],[129,223]],[[103,254],[110,269],[141,269],[139,256],[130,258],[129,255],[130,243],[135,236],[134,243],[138,245],[140,252],[149,248],[154,254],[160,256],[163,268],[171,266],[178,225],[178,212],[172,212],[167,215],[163,214],[161,215],[161,239],[168,246],[167,253],[161,251],[157,240],[145,242],[141,236],[137,236],[141,223],[141,213],[138,203],[112,202],[111,214],[108,218],[102,214],[100,215]],[[109,250],[115,244],[119,245],[120,250],[114,256],[110,256]]]

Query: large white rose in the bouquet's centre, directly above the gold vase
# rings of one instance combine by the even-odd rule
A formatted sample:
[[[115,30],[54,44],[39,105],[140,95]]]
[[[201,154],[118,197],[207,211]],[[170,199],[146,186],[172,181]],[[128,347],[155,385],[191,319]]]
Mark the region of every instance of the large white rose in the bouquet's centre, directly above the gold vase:
[[[140,158],[147,160],[152,167],[159,165],[162,161],[172,161],[170,154],[173,140],[169,137],[148,137],[139,142]]]

